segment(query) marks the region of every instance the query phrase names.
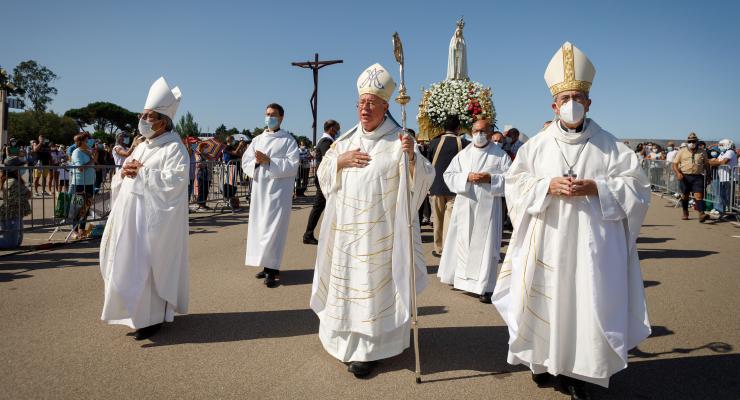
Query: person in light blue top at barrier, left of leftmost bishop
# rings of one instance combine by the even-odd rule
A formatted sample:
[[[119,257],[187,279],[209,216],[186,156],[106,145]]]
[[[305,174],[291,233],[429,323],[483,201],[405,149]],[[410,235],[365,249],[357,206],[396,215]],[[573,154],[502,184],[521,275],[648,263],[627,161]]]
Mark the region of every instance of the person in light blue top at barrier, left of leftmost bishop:
[[[80,133],[74,137],[77,148],[72,152],[69,163],[70,166],[74,167],[70,171],[72,178],[70,187],[73,193],[82,196],[84,199],[80,212],[72,217],[72,229],[78,238],[87,222],[87,213],[93,196],[93,185],[95,184],[95,163],[89,147],[89,140],[92,139],[87,133]]]

